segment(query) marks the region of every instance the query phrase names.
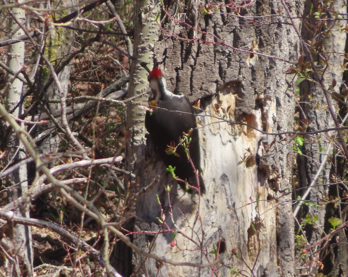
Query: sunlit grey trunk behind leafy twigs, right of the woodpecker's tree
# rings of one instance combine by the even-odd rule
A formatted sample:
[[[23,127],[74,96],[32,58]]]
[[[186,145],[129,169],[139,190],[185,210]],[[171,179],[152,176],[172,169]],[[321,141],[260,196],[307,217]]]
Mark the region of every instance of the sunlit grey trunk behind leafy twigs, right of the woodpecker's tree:
[[[313,4],[315,5],[313,6]],[[325,28],[326,30],[330,30],[330,28],[335,28],[335,25],[338,23],[343,24],[343,20],[332,19],[321,23],[315,18],[314,14],[319,7],[321,5],[319,3],[313,3],[313,1],[306,1],[305,3],[304,15],[306,19],[302,24],[302,37],[304,41],[313,41],[313,46],[318,52],[313,51],[313,55],[311,57],[307,56],[304,58],[304,61],[308,62],[313,59],[318,67],[322,66],[326,68],[320,79],[317,79],[314,73],[310,74],[310,76],[317,83],[322,82],[326,88],[329,88],[333,81],[337,82],[334,93],[339,93],[342,83],[343,64],[343,56],[339,53],[345,51],[346,34],[332,32],[329,35],[325,35],[325,32],[319,33],[316,30],[325,30]],[[338,1],[334,1],[331,8],[344,13],[344,9]],[[332,14],[332,16],[334,15]],[[318,24],[318,28],[314,28],[316,24]],[[324,28],[324,26],[326,27]],[[337,53],[327,54],[323,52],[319,54],[321,49],[325,50],[325,52],[334,49]],[[327,59],[327,61],[324,61],[324,59]],[[299,105],[299,118],[302,121],[302,124],[300,124],[303,130],[306,130],[307,126],[307,131],[317,131],[334,127],[334,121],[327,108],[328,104],[324,97],[323,89],[318,84],[307,80],[303,81],[300,85],[299,96],[299,102],[301,103]],[[336,106],[337,102],[331,98],[331,104]],[[302,193],[301,191],[295,193],[303,195],[304,192],[307,192],[305,195],[306,200],[310,200],[310,203],[320,204],[329,191],[329,187],[326,184],[330,183],[331,163],[329,162],[330,159],[328,160],[327,158],[332,154],[333,145],[330,143],[330,136],[325,133],[307,135],[304,138],[306,142],[302,148],[303,155],[298,155],[297,158],[298,185],[299,187],[303,187],[304,190]],[[297,209],[295,212],[300,220],[306,215],[318,216],[316,224],[320,227],[324,226],[324,207],[302,205],[302,209]],[[322,236],[322,228],[307,225],[304,229],[306,230],[309,241],[312,240],[312,237],[314,241],[317,241]]]

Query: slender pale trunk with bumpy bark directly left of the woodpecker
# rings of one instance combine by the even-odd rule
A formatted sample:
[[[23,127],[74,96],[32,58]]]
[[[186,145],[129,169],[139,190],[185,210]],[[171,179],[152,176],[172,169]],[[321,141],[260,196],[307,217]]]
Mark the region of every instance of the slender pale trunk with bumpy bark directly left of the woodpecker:
[[[155,18],[159,11],[159,7],[153,0],[136,1],[136,14],[139,15],[135,22],[135,40],[133,44],[133,56],[142,62],[149,64],[151,67],[152,50],[155,41],[158,40],[157,23]],[[130,82],[128,87],[128,97],[133,97],[145,92],[148,88],[147,85],[147,71],[140,66],[139,61],[132,60],[130,63]],[[139,107],[139,104],[145,105],[147,96],[140,96],[135,103],[129,103],[127,106],[127,118],[126,124],[130,138],[126,145],[126,170],[137,171],[137,165],[135,163],[136,153],[141,151],[139,146],[144,143],[144,118],[145,110]],[[137,160],[139,163],[139,159]],[[140,162],[141,166],[141,162]],[[139,174],[137,174],[139,176]],[[136,180],[130,180],[125,178],[125,187],[127,182],[131,184],[131,190],[133,192],[138,188],[136,186]],[[127,210],[133,212],[134,198],[129,197],[126,203]],[[132,207],[132,208],[131,208]],[[129,218],[125,224],[122,225],[123,230],[133,232],[134,230],[134,218]],[[129,236],[130,240],[133,240],[133,236]],[[118,241],[113,248],[110,255],[110,264],[113,266],[122,276],[130,276],[132,274],[132,254],[133,251],[124,242]]]

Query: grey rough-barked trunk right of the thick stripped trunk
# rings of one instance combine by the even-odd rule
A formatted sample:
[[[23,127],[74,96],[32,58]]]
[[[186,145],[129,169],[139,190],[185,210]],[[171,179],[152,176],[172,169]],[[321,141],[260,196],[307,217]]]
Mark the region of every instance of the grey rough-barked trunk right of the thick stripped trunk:
[[[343,8],[339,1],[334,1],[331,5],[332,10],[337,10],[339,13],[345,13],[345,8]],[[311,5],[317,5],[313,1],[306,1],[304,8],[304,16],[308,16]],[[316,8],[316,6],[314,7]],[[305,41],[316,40],[318,33],[314,31],[312,27],[315,25],[317,20],[310,15],[310,17],[304,21],[302,25],[302,37]],[[343,20],[330,20],[327,22],[327,29],[332,28],[335,24],[343,24]],[[334,51],[340,53],[344,52],[345,49],[345,33],[332,32],[327,37],[321,37],[319,35],[319,47],[323,49],[334,49]],[[332,80],[335,79],[338,83],[334,90],[339,90],[341,80],[342,80],[342,67],[343,58],[338,53],[330,54],[329,65],[323,76],[323,82],[326,87],[329,87],[332,83]],[[329,58],[329,56],[328,56]],[[316,63],[321,63],[321,57],[319,55],[313,56],[313,59]],[[307,59],[308,60],[308,59]],[[314,75],[312,75],[314,79]],[[320,80],[316,80],[320,81]],[[308,131],[317,131],[325,128],[334,127],[333,119],[330,115],[330,112],[327,110],[327,103],[323,97],[323,90],[321,87],[316,85],[313,82],[303,81],[300,86],[300,96],[301,96],[301,109],[299,111],[300,119],[302,120],[313,120],[308,127]],[[334,103],[334,102],[333,102]],[[298,170],[299,170],[299,187],[307,188],[307,186],[314,180],[314,176],[319,171],[319,168],[324,164],[324,168],[315,180],[314,186],[310,189],[308,195],[308,200],[316,204],[319,203],[322,199],[325,198],[325,194],[328,192],[328,187],[325,184],[330,183],[330,168],[331,165],[327,162],[327,154],[331,153],[332,144],[328,143],[329,139],[325,134],[319,134],[316,136],[306,136],[306,143],[303,147],[302,156],[298,156]],[[328,151],[328,152],[327,152]],[[322,184],[322,185],[320,185]],[[309,207],[307,205],[302,206],[302,213],[298,214],[299,218],[303,218],[307,213],[311,215],[318,215],[319,220],[317,225],[319,227],[324,226],[324,217],[325,209],[323,207]],[[314,241],[317,241],[321,235],[321,229],[313,229],[311,226],[308,226],[306,229],[306,235],[309,242],[311,242],[312,237]]]

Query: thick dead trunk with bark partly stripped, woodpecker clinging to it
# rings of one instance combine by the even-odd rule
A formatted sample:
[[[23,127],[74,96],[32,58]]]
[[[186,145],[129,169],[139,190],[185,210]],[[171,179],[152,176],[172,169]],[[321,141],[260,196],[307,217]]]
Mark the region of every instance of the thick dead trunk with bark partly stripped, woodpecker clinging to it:
[[[248,55],[231,47],[294,61],[298,55],[298,38],[291,25],[272,24],[277,22],[276,16],[258,27],[246,27],[248,21],[245,18],[235,16],[225,7],[203,16],[197,1],[191,1],[185,10],[176,5],[176,2],[168,5],[170,15],[175,14],[176,19],[210,34],[173,22],[162,14],[164,30],[174,35],[162,33],[155,44],[155,57],[162,63],[160,67],[167,77],[168,89],[187,95],[192,102],[201,98],[201,106],[207,111],[199,114],[204,126],[199,129],[199,134],[207,193],[200,199],[198,195],[193,199],[189,195],[181,198],[183,192],[175,191],[174,185],[168,197],[163,191],[163,185],[168,181],[165,181],[167,176],[161,165],[153,163],[156,158],[148,155],[147,150],[138,151],[137,158],[144,159],[140,176],[146,180],[145,184],[149,185],[159,173],[162,179],[137,202],[137,215],[158,224],[156,218],[161,217],[161,209],[156,200],[157,193],[164,213],[172,211],[173,216],[166,218],[169,228],[179,229],[187,236],[177,235],[173,249],[169,245],[173,239],[171,232],[158,236],[140,233],[134,242],[147,251],[149,243],[152,253],[176,262],[206,263],[214,260],[214,254],[209,252],[223,240],[226,247],[220,255],[226,266],[214,268],[218,276],[230,275],[230,268],[246,270],[243,271],[246,275],[293,276],[291,196],[282,196],[291,191],[291,145],[280,141],[284,136],[276,137],[275,145],[271,145],[274,136],[262,135],[251,127],[220,123],[220,120],[205,115],[209,112],[216,115],[216,104],[221,104],[225,109],[231,106],[227,115],[231,121],[247,123],[265,132],[292,131],[294,95],[287,89],[286,82],[291,80],[282,74],[290,65],[277,59]],[[294,11],[292,7],[290,9]],[[243,16],[258,16],[262,12],[275,14],[278,10],[285,12],[280,3],[264,1],[252,3],[239,12]],[[295,17],[295,14],[291,16]],[[279,18],[281,22],[284,20]],[[211,33],[227,45],[195,40],[220,42]],[[269,152],[264,145],[270,147]],[[238,165],[248,151],[253,155]],[[256,154],[259,156],[255,159]],[[279,196],[282,197],[277,201],[268,201]],[[256,201],[258,198],[260,200]],[[175,202],[177,199],[179,201]],[[143,230],[145,227],[137,224],[137,228]],[[150,224],[147,230],[156,232],[158,227]],[[155,244],[156,247],[152,247]],[[134,262],[135,269],[140,268],[136,276],[146,273],[149,276],[212,274],[212,269],[158,265],[152,259],[144,260],[138,255]]]

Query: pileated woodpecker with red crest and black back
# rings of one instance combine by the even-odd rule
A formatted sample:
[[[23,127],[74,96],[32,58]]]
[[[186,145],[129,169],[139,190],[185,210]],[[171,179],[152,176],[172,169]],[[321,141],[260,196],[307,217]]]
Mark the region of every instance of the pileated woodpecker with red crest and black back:
[[[205,186],[200,175],[199,137],[194,109],[185,95],[175,95],[167,90],[166,79],[158,67],[149,73],[148,80],[150,88],[155,94],[157,106],[152,107],[151,112],[146,112],[145,127],[150,133],[155,151],[166,166],[175,167],[174,173],[177,177],[198,187],[196,173],[187,158],[184,146],[178,145],[183,133],[188,133],[190,129],[193,129],[188,149],[193,164],[199,170],[200,192],[204,193]],[[179,155],[166,153],[168,145],[173,145],[173,143],[175,146],[178,145],[175,152]],[[179,184],[185,190],[185,185]],[[192,193],[192,189],[189,192]]]

